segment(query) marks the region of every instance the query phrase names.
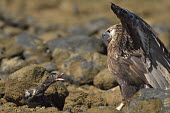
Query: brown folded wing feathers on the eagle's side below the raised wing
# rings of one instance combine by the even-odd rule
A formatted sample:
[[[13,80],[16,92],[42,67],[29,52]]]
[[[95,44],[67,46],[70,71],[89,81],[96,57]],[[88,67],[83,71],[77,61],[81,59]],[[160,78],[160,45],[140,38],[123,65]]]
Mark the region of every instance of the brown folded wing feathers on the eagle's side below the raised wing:
[[[121,58],[119,60],[120,67],[123,67],[120,75],[126,75],[133,84],[137,86],[148,84],[144,73],[146,69],[142,63],[141,56],[133,56],[133,54],[128,58]],[[129,83],[130,84],[130,83]]]

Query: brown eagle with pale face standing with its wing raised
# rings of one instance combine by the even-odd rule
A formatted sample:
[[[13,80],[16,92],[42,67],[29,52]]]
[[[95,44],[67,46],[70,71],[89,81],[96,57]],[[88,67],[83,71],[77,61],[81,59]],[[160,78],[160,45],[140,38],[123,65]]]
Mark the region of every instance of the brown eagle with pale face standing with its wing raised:
[[[136,14],[111,3],[121,24],[102,33],[108,43],[107,63],[118,82],[120,110],[141,88],[170,88],[170,54],[152,27]]]

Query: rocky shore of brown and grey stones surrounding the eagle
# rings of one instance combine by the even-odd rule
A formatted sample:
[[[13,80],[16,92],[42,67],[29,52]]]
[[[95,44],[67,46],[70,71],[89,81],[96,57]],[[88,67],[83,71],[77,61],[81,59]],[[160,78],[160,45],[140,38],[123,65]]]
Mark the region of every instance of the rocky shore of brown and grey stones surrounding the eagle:
[[[142,89],[121,111],[122,96],[107,69],[107,47],[101,32],[107,18],[64,28],[39,24],[31,16],[0,12],[0,113],[161,113],[170,112],[170,90]],[[170,28],[153,25],[160,37]],[[64,73],[42,94],[26,103],[26,90],[42,84],[51,73]],[[42,96],[41,95],[41,96]],[[38,103],[37,103],[38,102]]]

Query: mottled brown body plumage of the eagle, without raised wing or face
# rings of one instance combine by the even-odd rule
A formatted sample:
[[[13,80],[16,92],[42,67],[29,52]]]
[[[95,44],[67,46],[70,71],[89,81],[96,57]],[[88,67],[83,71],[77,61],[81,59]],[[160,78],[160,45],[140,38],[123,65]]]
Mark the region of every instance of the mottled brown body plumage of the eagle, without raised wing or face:
[[[121,25],[114,25],[115,34],[108,45],[108,69],[121,87],[122,96],[128,99],[148,84],[140,50],[135,50],[132,39]],[[126,93],[130,92],[130,93]]]

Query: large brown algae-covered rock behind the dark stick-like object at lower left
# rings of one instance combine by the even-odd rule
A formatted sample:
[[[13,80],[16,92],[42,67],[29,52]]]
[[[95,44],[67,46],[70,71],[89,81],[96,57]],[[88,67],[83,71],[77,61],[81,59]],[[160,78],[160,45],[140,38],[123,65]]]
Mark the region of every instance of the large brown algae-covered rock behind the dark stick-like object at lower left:
[[[45,69],[36,65],[27,66],[12,73],[5,81],[5,99],[21,104],[25,90],[35,87],[44,73]]]

